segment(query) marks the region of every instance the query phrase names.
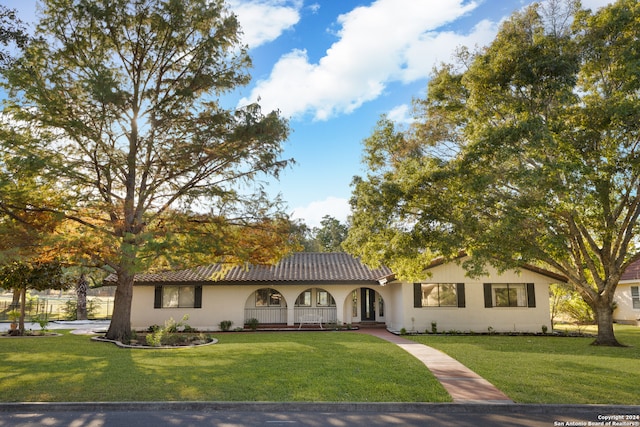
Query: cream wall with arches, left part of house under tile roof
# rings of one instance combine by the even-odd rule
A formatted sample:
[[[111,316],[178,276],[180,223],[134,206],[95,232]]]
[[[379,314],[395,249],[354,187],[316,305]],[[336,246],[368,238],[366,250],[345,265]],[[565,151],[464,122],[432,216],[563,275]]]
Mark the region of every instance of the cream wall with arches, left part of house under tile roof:
[[[133,287],[133,300],[131,307],[131,326],[136,330],[147,329],[151,325],[164,325],[169,318],[176,321],[184,315],[189,316],[187,323],[203,331],[219,330],[219,324],[223,320],[233,322],[232,329],[242,327],[245,321],[245,308],[251,306],[252,296],[255,291],[263,288],[272,288],[280,292],[284,299],[282,308],[286,304],[286,324],[293,326],[299,322],[295,316],[295,301],[300,293],[309,288],[324,289],[329,292],[336,302],[336,318],[338,322],[354,323],[360,321],[360,302],[358,301],[357,315],[353,316],[353,291],[366,287],[374,289],[376,303],[383,298],[385,314],[388,312],[386,298],[388,290],[379,285],[353,285],[353,284],[265,284],[265,285],[204,285],[202,287],[202,308],[154,308],[155,287]],[[385,322],[386,316],[376,316],[376,321]],[[323,321],[326,322],[327,319]]]

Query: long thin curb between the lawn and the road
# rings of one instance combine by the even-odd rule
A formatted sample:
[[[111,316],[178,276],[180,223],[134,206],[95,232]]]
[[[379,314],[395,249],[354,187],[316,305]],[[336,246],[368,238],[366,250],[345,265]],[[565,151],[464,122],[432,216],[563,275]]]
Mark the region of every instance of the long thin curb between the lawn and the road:
[[[403,402],[15,402],[0,403],[0,413],[42,412],[403,412],[477,414],[601,414],[637,415],[630,405],[541,405]]]

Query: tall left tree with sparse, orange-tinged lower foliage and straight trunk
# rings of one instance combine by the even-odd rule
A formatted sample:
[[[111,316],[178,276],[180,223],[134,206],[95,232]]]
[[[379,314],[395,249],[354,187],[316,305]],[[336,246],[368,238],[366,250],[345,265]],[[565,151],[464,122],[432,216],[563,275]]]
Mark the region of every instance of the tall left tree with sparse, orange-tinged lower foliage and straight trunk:
[[[35,133],[30,156],[67,197],[4,209],[82,227],[118,276],[109,338],[131,333],[142,269],[282,255],[289,222],[256,180],[286,167],[288,126],[225,106],[250,58],[222,0],[44,0],[37,34],[5,73],[7,125]]]

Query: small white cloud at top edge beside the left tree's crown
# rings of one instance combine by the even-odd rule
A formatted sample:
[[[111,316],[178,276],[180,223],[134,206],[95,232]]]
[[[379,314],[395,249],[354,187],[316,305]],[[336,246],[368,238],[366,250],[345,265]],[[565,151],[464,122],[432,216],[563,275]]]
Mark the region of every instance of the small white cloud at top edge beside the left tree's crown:
[[[232,0],[242,27],[243,43],[255,48],[277,39],[300,21],[301,0]]]

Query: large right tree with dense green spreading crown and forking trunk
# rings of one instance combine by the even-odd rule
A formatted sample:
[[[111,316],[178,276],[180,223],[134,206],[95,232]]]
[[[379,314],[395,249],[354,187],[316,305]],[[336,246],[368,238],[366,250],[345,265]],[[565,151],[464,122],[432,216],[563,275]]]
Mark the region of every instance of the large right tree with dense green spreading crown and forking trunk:
[[[470,274],[544,265],[594,310],[595,344],[618,345],[614,293],[640,259],[638,22],[635,0],[535,4],[438,67],[417,121],[366,140],[347,249],[405,276],[461,250]]]

